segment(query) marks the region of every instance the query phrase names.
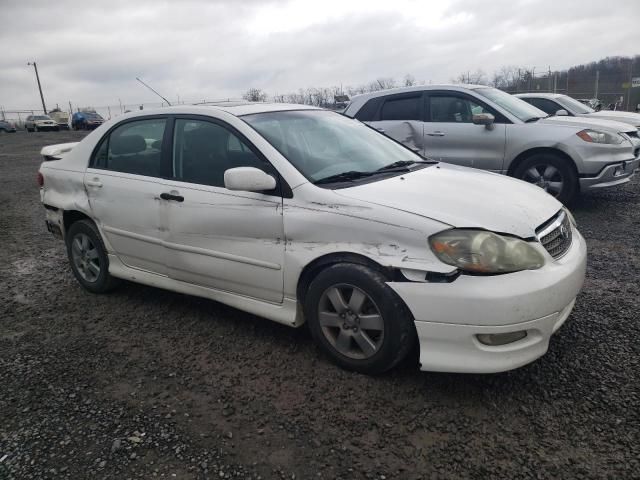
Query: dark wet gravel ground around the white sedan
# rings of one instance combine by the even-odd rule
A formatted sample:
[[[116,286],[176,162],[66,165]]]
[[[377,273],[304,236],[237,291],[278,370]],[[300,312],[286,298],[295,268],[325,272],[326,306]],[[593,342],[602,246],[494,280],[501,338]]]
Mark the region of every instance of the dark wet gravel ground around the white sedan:
[[[640,182],[573,208],[583,292],[549,353],[496,375],[342,371],[293,330],[73,279],[39,149],[0,136],[0,479],[640,478]]]

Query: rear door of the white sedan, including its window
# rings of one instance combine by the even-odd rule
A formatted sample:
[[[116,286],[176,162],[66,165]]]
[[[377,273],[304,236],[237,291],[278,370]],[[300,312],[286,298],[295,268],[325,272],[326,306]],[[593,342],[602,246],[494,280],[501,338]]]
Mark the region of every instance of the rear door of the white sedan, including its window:
[[[116,126],[98,144],[84,177],[94,219],[114,253],[132,268],[166,275],[170,175],[167,117]]]

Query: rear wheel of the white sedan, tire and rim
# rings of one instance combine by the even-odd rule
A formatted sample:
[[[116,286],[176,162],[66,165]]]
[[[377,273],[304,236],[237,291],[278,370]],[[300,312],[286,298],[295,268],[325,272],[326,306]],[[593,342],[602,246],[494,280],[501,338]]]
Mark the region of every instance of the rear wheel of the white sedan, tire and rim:
[[[95,223],[73,223],[67,231],[66,244],[73,275],[85,290],[105,293],[118,285],[118,279],[109,274],[109,256]]]

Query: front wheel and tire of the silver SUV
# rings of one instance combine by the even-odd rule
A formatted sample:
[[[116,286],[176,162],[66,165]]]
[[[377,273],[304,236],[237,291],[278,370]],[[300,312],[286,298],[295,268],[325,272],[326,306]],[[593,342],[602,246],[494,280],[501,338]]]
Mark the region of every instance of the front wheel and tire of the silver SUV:
[[[544,189],[564,204],[578,194],[578,174],[571,160],[550,153],[537,153],[516,167],[513,176]]]

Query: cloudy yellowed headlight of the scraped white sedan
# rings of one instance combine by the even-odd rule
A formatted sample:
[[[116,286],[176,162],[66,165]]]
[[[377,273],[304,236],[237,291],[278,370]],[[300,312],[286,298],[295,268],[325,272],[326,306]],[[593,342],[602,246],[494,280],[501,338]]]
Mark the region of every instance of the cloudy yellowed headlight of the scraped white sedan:
[[[473,273],[535,270],[542,254],[524,240],[484,230],[445,230],[429,237],[429,246],[444,263]]]

